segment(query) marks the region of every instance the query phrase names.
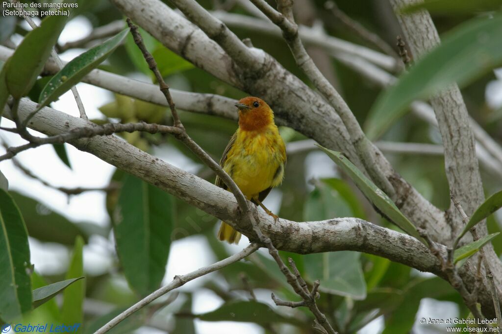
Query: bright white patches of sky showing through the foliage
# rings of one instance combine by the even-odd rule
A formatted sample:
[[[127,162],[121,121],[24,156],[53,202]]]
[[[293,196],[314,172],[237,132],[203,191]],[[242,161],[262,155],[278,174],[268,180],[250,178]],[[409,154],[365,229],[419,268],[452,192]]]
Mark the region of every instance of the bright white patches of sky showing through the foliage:
[[[76,40],[86,36],[91,29],[89,22],[81,17],[72,20],[63,33],[59,42],[64,44],[68,41]],[[69,61],[83,50],[70,50],[61,55],[63,60]],[[502,70],[496,71],[500,80],[490,82],[486,89],[487,103],[494,108],[502,106]],[[141,78],[141,76],[139,76]],[[138,79],[138,77],[135,77]],[[145,81],[149,79],[144,77]],[[86,113],[89,118],[101,118],[98,107],[113,100],[113,94],[98,87],[85,83],[77,85],[77,89],[82,97]],[[60,99],[52,104],[57,109],[78,116],[78,109],[75,105],[73,95],[66,93]],[[7,119],[2,120],[2,126],[12,126],[13,123]],[[34,134],[41,135],[34,132]],[[9,145],[19,145],[24,143],[17,135],[3,132],[3,140]],[[72,169],[70,170],[63,164],[55,154],[52,146],[45,145],[36,149],[31,149],[20,153],[17,158],[40,178],[48,181],[55,186],[64,187],[105,187],[114,171],[114,167],[100,160],[92,154],[77,150],[71,145],[66,144]],[[0,154],[3,148],[0,148]],[[189,172],[196,171],[200,166],[178,152],[175,148],[163,148],[156,151],[156,155],[173,165],[178,166]],[[109,224],[108,215],[104,206],[104,193],[87,192],[83,195],[73,196],[70,199],[66,195],[47,188],[37,181],[26,177],[10,161],[0,163],[2,173],[7,177],[10,183],[10,189],[23,193],[27,196],[38,199],[44,204],[40,210],[55,211],[72,221],[91,221],[100,225]],[[306,181],[312,178],[332,177],[334,176],[333,162],[321,152],[312,152],[306,160]],[[265,205],[272,211],[277,212],[280,207],[282,193],[274,190],[267,198]],[[218,224],[216,224],[218,225]],[[215,226],[217,229],[217,226]],[[215,231],[216,234],[216,231]],[[245,236],[242,237],[239,245],[227,245],[225,247],[231,253],[237,252],[248,244]],[[30,238],[30,247],[32,254],[32,263],[41,274],[62,273],[67,269],[69,261],[68,249],[62,245],[42,243]],[[190,258],[190,261],[186,261]],[[115,260],[112,238],[102,237],[91,238],[88,245],[84,247],[84,268],[89,275],[97,275],[106,272]],[[209,265],[215,261],[212,252],[207,245],[207,241],[202,236],[193,236],[179,241],[175,241],[171,246],[169,260],[164,278],[164,283],[169,282],[174,275],[185,274],[202,266]],[[205,280],[214,279],[215,274],[204,276],[197,280],[187,283],[180,290],[187,290],[193,287],[201,286]],[[117,279],[117,284],[127,288],[125,281]],[[272,305],[269,291],[257,291],[259,300]],[[194,294],[194,313],[211,311],[222,304],[219,297],[206,289],[199,289]],[[423,299],[420,306],[418,317],[431,316],[441,310],[451,314],[454,317],[458,313],[455,305],[449,302],[438,302],[433,299]],[[437,314],[437,313],[436,313]],[[237,322],[204,322],[195,320],[197,332],[200,334],[210,334],[218,332],[219,334],[256,334],[262,333],[261,327],[249,323]],[[359,333],[376,333],[383,328],[383,318],[380,317]],[[423,326],[417,326],[415,330],[419,333],[429,333],[430,329],[424,329]],[[156,333],[157,329],[151,327],[142,327],[138,330],[140,333]]]

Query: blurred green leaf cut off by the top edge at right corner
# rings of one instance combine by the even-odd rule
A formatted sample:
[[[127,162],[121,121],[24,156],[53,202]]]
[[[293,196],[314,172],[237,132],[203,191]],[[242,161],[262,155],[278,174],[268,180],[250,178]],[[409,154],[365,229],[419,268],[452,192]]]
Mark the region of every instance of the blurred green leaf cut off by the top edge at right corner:
[[[403,14],[411,14],[424,9],[431,14],[459,15],[496,11],[500,9],[500,6],[502,6],[501,0],[425,0],[405,7],[401,12]]]

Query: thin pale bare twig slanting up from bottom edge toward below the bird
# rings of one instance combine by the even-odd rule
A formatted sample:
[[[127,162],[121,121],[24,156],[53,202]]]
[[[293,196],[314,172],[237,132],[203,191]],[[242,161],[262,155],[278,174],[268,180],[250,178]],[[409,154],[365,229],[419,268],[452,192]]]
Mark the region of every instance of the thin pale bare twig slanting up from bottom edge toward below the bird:
[[[190,272],[190,273],[188,273],[186,275],[182,275],[182,276],[176,275],[176,276],[174,276],[174,279],[171,281],[171,283],[169,283],[169,284],[161,287],[160,289],[152,292],[151,294],[149,294],[145,298],[141,299],[139,302],[137,302],[133,306],[129,307],[128,309],[126,309],[122,313],[118,314],[113,319],[111,319],[110,321],[108,321],[104,326],[102,326],[101,328],[99,328],[98,330],[96,330],[94,332],[94,334],[103,334],[103,333],[107,332],[108,330],[110,330],[111,328],[113,328],[114,326],[116,326],[118,323],[120,323],[120,321],[126,319],[128,316],[130,316],[134,312],[140,310],[141,308],[143,308],[144,306],[148,305],[149,303],[151,303],[155,299],[159,298],[160,296],[168,293],[169,291],[171,291],[173,289],[176,289],[176,288],[182,286],[183,284],[185,284],[185,283],[187,283],[187,282],[189,282],[189,281],[191,281],[191,280],[193,280],[195,278],[207,275],[207,274],[209,274],[209,273],[211,273],[213,271],[219,270],[219,269],[224,268],[224,267],[226,267],[226,266],[228,266],[228,265],[230,265],[230,264],[232,264],[234,262],[237,262],[237,261],[245,258],[246,256],[248,256],[249,254],[252,254],[258,248],[260,248],[260,247],[257,244],[250,244],[249,246],[247,246],[246,248],[244,248],[240,252],[235,253],[232,256],[229,256],[229,257],[227,257],[224,260],[221,260],[221,261],[218,261],[216,263],[213,263],[213,264],[211,264],[211,265],[209,265],[207,267],[203,267],[203,268],[197,269],[197,270],[192,271],[192,272]]]

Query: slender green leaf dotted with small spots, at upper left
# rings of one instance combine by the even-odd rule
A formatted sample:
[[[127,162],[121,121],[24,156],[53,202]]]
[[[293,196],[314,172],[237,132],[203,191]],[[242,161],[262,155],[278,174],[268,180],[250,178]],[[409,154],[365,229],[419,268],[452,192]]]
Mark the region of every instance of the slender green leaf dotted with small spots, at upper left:
[[[112,38],[106,40],[83,54],[75,57],[52,77],[40,93],[40,104],[38,109],[46,106],[59,96],[71,89],[87,73],[101,64],[119,45],[129,33],[129,29],[124,29]]]

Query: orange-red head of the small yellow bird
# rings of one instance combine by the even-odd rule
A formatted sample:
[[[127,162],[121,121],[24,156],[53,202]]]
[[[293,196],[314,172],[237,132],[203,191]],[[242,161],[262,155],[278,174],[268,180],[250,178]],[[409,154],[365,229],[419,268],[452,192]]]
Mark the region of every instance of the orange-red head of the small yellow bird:
[[[239,127],[242,130],[261,130],[274,123],[274,112],[261,98],[244,97],[235,106],[239,110]]]

